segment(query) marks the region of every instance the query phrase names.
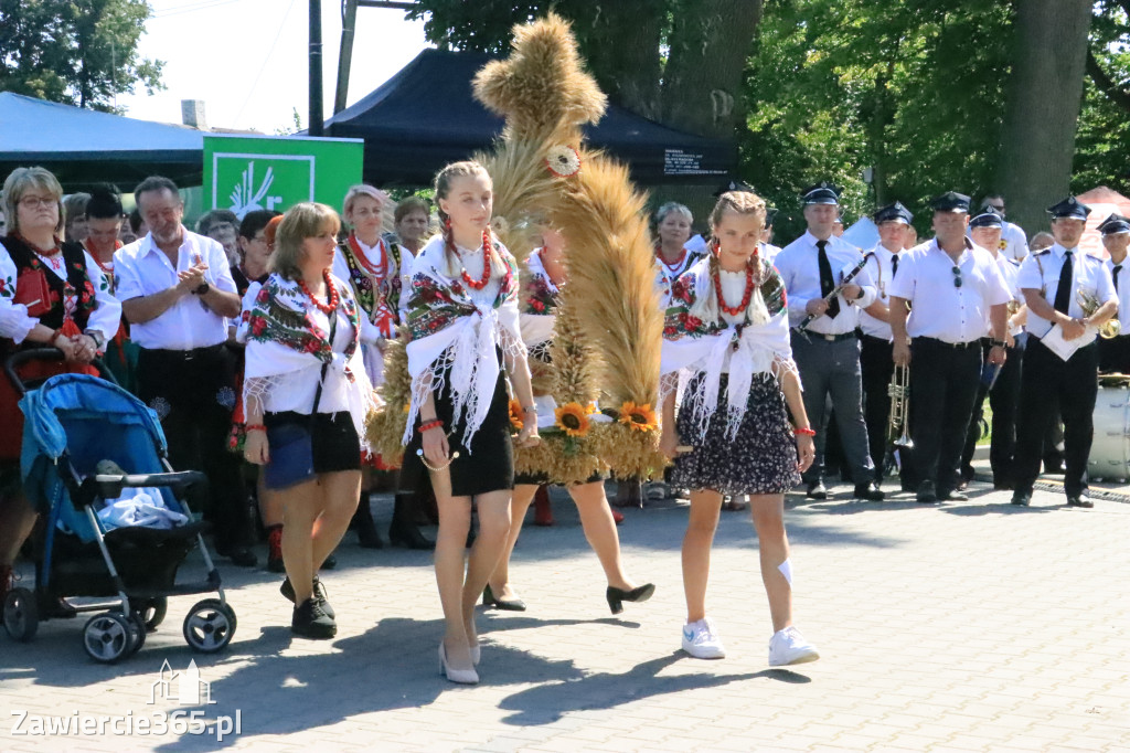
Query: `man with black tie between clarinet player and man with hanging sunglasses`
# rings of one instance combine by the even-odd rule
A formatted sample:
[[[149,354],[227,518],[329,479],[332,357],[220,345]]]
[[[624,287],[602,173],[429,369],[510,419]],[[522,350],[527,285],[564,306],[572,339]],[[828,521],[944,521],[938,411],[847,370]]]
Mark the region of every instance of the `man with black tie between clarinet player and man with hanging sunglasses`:
[[[879,244],[863,254],[867,270],[875,280],[878,297],[860,314],[859,326],[863,332],[860,347],[860,367],[863,372],[863,419],[867,423],[867,439],[875,460],[875,482],[883,483],[884,464],[887,455],[887,433],[890,418],[890,378],[895,373],[893,357],[894,335],[890,332],[888,292],[890,280],[898,271],[899,254],[906,240],[906,228],[914,215],[901,202],[876,210],[871,218],[879,228]],[[901,451],[901,475],[903,486],[911,483],[907,455]],[[916,488],[913,486],[911,488]]]

